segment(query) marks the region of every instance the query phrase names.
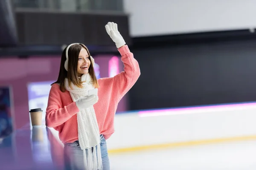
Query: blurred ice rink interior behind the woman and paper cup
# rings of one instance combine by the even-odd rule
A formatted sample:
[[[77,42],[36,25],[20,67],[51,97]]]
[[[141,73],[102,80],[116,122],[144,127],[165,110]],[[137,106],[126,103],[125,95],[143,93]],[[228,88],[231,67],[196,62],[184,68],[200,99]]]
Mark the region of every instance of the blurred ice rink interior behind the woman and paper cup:
[[[29,124],[30,109],[42,108],[44,122],[70,43],[89,48],[97,78],[123,71],[105,31],[111,21],[141,71],[116,112],[112,168],[253,170],[255,8],[255,0],[0,0],[0,137]],[[235,143],[216,145],[227,141]]]

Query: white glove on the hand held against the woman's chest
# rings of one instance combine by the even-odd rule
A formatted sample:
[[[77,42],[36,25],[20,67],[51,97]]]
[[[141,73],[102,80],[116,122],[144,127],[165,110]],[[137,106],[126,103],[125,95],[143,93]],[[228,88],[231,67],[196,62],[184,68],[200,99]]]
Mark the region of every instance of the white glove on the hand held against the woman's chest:
[[[76,106],[81,109],[90,108],[96,102],[98,102],[99,97],[92,95],[89,97],[82,97],[76,101]]]

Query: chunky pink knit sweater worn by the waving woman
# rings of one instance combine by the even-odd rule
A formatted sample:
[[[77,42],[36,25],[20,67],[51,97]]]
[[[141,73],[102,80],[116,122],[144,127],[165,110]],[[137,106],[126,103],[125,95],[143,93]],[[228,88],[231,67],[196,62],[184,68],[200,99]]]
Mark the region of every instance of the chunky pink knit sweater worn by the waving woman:
[[[98,79],[99,100],[94,105],[99,132],[108,139],[114,132],[114,116],[118,102],[131,89],[140,76],[140,68],[127,45],[118,49],[124,63],[124,71],[111,78]],[[53,84],[46,109],[46,125],[58,130],[61,141],[70,143],[78,140],[76,113],[79,108],[71,99],[69,91],[60,91]]]

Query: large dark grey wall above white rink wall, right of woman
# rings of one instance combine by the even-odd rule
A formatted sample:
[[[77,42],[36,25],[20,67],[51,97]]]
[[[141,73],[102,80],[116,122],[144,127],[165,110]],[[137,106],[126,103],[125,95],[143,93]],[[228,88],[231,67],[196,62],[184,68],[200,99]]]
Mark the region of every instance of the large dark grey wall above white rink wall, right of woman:
[[[256,40],[145,46],[131,110],[256,101]]]

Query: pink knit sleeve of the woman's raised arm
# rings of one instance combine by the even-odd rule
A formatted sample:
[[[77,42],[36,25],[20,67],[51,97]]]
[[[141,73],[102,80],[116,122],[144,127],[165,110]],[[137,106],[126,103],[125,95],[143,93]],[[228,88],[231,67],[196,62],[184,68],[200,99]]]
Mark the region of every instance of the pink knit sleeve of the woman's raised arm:
[[[118,51],[122,56],[121,60],[124,63],[124,71],[114,77],[114,83],[118,84],[119,99],[121,99],[140,77],[140,66],[127,45],[118,48]]]

